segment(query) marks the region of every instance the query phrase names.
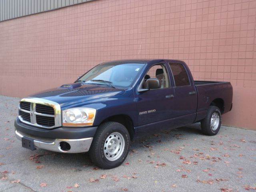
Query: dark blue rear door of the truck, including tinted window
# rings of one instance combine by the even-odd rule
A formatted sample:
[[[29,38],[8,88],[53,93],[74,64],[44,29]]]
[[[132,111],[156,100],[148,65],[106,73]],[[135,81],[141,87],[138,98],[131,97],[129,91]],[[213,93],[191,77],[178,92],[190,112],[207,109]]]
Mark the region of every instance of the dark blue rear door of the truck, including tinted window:
[[[196,118],[197,93],[193,79],[182,63],[169,62],[174,80],[175,117],[179,126],[191,124]]]

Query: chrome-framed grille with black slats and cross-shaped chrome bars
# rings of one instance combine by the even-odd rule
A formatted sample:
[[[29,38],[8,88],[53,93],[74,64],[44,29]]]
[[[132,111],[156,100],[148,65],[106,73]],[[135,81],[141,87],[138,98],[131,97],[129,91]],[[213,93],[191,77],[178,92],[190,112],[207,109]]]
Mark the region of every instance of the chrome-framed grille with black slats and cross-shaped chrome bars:
[[[54,128],[61,126],[60,105],[40,98],[24,98],[19,105],[19,119],[32,126]]]

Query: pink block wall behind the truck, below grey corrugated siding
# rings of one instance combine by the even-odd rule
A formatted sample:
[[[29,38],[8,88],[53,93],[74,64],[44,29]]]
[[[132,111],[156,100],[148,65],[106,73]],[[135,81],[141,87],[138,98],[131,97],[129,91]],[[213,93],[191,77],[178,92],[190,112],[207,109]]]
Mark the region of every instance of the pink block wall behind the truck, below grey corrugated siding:
[[[0,22],[0,94],[23,97],[128,58],[184,60],[230,81],[224,124],[256,129],[256,0],[95,0]]]

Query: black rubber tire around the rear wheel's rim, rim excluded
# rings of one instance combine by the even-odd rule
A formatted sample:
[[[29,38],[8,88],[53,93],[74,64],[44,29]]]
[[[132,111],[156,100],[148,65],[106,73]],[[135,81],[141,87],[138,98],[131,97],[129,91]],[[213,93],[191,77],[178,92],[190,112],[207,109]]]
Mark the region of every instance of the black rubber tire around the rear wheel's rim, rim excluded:
[[[213,130],[211,128],[211,118],[212,118],[212,114],[217,113],[219,116],[219,124],[218,124],[218,128],[216,128],[215,130]],[[220,125],[221,125],[221,112],[220,109],[216,106],[210,106],[208,109],[208,113],[206,115],[206,118],[204,118],[201,122],[201,130],[203,134],[206,135],[216,135],[219,130],[220,130]]]

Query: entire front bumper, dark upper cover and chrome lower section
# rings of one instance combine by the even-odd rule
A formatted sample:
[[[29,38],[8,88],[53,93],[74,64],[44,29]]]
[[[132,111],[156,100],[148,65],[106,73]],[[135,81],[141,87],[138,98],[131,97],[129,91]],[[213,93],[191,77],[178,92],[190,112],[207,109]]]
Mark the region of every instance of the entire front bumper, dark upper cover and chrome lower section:
[[[97,129],[97,127],[60,127],[53,130],[45,130],[24,124],[20,122],[19,119],[16,119],[14,126],[15,136],[18,140],[22,140],[23,137],[31,138],[33,139],[34,146],[37,148],[62,153],[88,152]],[[74,132],[72,132],[72,130],[74,130]],[[60,142],[67,142],[70,145],[70,149],[62,150]]]

